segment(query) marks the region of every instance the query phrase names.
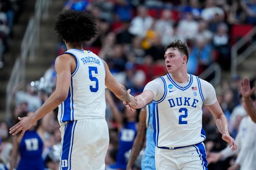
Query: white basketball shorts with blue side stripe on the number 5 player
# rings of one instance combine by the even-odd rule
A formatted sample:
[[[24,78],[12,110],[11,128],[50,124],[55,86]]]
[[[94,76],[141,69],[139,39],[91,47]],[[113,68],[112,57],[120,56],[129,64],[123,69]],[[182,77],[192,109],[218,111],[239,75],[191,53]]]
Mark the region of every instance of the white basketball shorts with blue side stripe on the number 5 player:
[[[60,170],[105,170],[109,135],[105,119],[61,123]]]

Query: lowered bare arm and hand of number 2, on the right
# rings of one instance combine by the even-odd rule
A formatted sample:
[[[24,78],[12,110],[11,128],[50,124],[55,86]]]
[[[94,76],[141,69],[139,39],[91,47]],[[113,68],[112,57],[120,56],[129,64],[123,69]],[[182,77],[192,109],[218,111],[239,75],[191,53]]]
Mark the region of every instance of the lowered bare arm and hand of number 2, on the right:
[[[221,106],[219,105],[218,101],[216,101],[213,105],[206,105],[206,107],[209,109],[209,111],[211,111],[212,115],[214,116],[218,130],[222,134],[222,139],[229,143],[230,147],[233,146],[232,151],[236,150],[237,145],[228,132],[227,118],[221,110]]]

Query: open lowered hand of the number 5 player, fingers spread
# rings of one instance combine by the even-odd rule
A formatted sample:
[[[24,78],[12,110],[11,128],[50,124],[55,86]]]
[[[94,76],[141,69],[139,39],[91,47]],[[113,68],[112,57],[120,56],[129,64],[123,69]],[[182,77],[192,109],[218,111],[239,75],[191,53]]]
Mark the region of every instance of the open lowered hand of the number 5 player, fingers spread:
[[[27,117],[18,117],[18,119],[20,120],[20,122],[11,127],[9,133],[14,136],[22,131],[20,134],[20,138],[22,138],[26,130],[32,127],[36,121],[33,120],[33,115]]]

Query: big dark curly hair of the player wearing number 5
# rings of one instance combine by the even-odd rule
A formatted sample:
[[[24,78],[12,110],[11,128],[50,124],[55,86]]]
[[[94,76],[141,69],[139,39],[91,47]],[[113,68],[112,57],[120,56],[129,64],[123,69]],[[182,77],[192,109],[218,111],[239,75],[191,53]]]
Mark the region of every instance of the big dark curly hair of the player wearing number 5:
[[[98,34],[96,21],[91,14],[82,11],[65,10],[58,14],[55,30],[66,42],[90,41]]]

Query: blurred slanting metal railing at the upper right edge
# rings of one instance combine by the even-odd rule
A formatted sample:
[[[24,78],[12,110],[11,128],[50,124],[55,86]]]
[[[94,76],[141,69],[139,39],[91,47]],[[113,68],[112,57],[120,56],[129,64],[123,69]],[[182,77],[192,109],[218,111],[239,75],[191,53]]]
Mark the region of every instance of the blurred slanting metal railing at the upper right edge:
[[[244,61],[253,51],[256,50],[256,40],[253,37],[256,36],[256,26],[244,35],[239,41],[237,41],[231,48],[231,76],[237,74],[237,67]],[[239,50],[245,47],[245,50],[238,54]]]

